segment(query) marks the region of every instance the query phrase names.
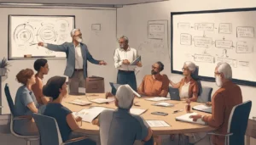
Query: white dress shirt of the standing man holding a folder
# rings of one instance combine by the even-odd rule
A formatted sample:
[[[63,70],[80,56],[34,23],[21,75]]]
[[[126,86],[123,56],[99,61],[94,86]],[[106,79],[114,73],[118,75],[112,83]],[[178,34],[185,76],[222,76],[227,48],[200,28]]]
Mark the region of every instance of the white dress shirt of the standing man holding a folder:
[[[128,47],[126,51],[123,48],[117,48],[113,54],[115,68],[118,70],[134,71],[137,66],[123,64],[123,60],[125,59],[127,59],[131,64],[135,59],[137,59],[137,50],[132,47]]]

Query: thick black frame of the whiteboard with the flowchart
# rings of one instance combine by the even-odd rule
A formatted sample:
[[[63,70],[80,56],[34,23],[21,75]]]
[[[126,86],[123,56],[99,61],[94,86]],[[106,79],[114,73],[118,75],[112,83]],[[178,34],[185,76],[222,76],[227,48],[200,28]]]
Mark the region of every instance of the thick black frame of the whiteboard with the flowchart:
[[[172,61],[171,61],[171,72],[172,74],[180,74],[182,75],[183,72],[179,70],[173,70],[173,15],[178,15],[178,14],[207,14],[207,13],[230,13],[230,12],[247,12],[247,11],[255,11],[256,8],[230,8],[230,9],[218,9],[218,10],[202,10],[202,11],[187,11],[187,12],[171,12],[171,56],[172,56]],[[213,73],[213,70],[212,70]],[[209,77],[209,76],[202,76],[199,75],[199,79],[201,81],[214,81],[214,77]],[[238,80],[238,79],[232,79],[232,81],[238,85],[244,85],[244,86],[256,86],[256,81],[244,81],[244,80]]]

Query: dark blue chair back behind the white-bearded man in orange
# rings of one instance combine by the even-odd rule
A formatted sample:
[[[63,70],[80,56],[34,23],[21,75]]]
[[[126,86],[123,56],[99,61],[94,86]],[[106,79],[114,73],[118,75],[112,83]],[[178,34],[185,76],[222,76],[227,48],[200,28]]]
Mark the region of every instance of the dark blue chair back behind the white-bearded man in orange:
[[[228,133],[233,133],[233,135],[230,136],[230,144],[244,145],[244,137],[251,108],[252,101],[247,101],[234,106],[231,110],[227,131]]]

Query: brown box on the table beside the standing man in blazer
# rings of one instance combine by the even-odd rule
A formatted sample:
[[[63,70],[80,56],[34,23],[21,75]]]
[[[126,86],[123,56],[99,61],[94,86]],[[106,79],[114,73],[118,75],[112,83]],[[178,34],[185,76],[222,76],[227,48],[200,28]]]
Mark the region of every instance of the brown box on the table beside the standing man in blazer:
[[[104,78],[100,76],[90,76],[86,78],[86,85],[85,85],[86,93],[104,93],[105,92],[105,85],[104,85]]]

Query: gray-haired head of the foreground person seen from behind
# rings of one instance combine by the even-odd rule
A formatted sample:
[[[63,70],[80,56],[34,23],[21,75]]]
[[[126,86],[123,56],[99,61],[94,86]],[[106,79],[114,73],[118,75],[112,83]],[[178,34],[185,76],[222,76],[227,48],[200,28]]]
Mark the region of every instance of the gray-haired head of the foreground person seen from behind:
[[[134,93],[132,92],[131,86],[122,85],[119,86],[115,94],[115,103],[121,109],[131,109],[134,99]]]

